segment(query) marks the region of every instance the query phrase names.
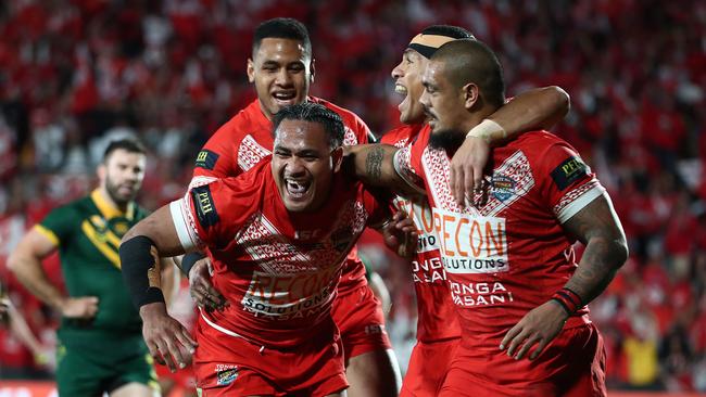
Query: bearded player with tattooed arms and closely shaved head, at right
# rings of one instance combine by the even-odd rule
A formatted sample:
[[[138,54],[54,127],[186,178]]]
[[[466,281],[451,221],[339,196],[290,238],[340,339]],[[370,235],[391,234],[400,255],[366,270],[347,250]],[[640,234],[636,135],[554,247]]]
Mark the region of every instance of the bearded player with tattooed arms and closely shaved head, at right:
[[[368,182],[428,193],[463,330],[440,395],[604,396],[605,353],[585,305],[627,258],[605,189],[568,143],[532,131],[493,150],[480,191],[459,205],[449,153],[503,105],[502,69],[481,42],[455,40],[423,82],[431,131],[351,157]],[[587,246],[578,266],[577,240]]]

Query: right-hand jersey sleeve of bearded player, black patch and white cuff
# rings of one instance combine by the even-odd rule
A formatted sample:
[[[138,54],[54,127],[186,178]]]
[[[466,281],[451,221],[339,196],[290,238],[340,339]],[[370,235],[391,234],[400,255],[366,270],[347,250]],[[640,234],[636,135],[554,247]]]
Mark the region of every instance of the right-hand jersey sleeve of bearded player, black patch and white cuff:
[[[550,145],[539,158],[540,194],[560,223],[607,194],[591,167],[568,143]]]

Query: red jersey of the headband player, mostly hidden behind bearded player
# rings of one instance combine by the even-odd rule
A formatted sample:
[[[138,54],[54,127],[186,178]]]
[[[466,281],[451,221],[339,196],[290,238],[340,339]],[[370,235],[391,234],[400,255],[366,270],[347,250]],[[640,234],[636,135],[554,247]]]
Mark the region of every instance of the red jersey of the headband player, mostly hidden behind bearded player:
[[[420,130],[428,128],[426,125],[402,126],[387,132],[380,142],[404,148],[419,136]],[[393,204],[414,220],[419,236],[417,255],[411,261],[417,293],[417,340],[431,343],[459,337],[461,326],[451,302],[429,202],[425,197],[409,201],[398,196]]]

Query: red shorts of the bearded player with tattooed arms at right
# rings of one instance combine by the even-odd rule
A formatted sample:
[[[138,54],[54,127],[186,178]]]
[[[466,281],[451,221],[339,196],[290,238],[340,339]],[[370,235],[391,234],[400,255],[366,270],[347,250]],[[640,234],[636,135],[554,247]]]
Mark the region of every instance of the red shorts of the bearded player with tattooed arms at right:
[[[530,350],[532,351],[532,350]],[[565,329],[534,361],[505,351],[456,351],[439,396],[606,396],[605,349],[590,324]]]

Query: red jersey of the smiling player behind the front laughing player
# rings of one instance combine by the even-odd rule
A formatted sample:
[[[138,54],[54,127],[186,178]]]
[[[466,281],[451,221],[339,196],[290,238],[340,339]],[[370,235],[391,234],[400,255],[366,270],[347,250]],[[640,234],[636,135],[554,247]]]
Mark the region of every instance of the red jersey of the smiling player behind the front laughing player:
[[[345,127],[344,145],[368,143],[370,130],[353,112],[315,97],[308,97],[308,101],[322,104],[341,116]],[[273,146],[273,124],[263,114],[260,102],[254,100],[218,128],[203,145],[197,156],[191,185],[237,177],[268,156]],[[365,267],[353,247],[341,276],[339,292],[344,294],[365,284]]]

